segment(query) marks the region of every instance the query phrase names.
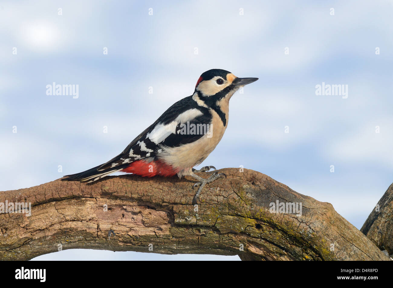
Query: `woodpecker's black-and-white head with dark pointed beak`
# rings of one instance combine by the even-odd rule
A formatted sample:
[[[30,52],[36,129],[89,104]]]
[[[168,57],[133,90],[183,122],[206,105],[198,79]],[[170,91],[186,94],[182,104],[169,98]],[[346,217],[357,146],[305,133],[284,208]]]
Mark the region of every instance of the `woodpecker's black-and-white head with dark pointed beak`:
[[[195,92],[201,99],[219,101],[230,97],[242,86],[257,81],[258,78],[238,78],[233,73],[222,69],[211,69],[200,75],[195,85]]]

